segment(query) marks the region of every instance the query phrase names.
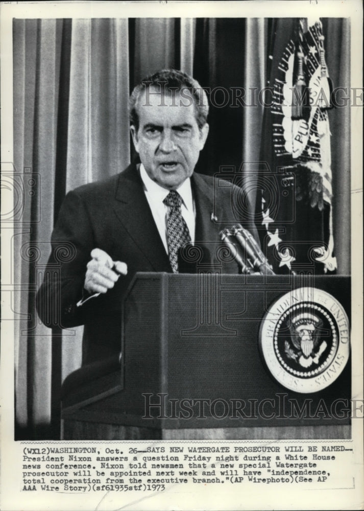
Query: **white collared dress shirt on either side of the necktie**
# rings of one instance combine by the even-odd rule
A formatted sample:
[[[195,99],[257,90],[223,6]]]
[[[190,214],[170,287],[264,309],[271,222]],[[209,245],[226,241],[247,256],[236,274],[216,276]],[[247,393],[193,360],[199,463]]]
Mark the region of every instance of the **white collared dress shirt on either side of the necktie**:
[[[167,244],[167,214],[169,207],[163,203],[163,200],[169,193],[169,190],[162,188],[158,183],[153,181],[147,171],[144,169],[143,164],[140,164],[140,177],[143,181],[145,197],[147,197],[148,204],[151,208],[154,221],[156,223],[159,236],[163,242],[165,251],[168,253]],[[181,212],[184,218],[192,244],[195,243],[195,203],[192,198],[191,181],[186,179],[179,188],[176,190],[182,197]]]

